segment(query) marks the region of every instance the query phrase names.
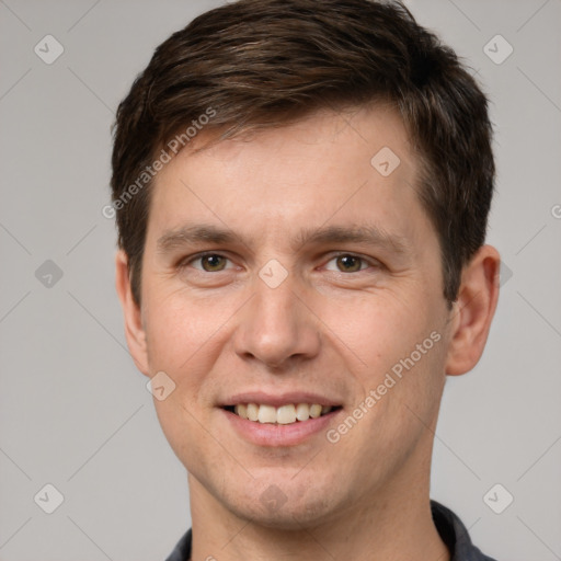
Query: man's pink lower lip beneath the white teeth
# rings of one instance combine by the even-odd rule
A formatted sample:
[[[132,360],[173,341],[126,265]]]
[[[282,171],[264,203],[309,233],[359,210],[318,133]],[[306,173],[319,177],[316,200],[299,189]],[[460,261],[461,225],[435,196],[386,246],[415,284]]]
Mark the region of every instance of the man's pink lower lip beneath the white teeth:
[[[325,431],[335,415],[343,410],[337,409],[319,417],[308,419],[308,421],[297,421],[288,425],[259,423],[256,421],[242,419],[236,413],[225,409],[220,409],[220,411],[232,424],[234,431],[243,438],[257,446],[296,446],[307,438]]]

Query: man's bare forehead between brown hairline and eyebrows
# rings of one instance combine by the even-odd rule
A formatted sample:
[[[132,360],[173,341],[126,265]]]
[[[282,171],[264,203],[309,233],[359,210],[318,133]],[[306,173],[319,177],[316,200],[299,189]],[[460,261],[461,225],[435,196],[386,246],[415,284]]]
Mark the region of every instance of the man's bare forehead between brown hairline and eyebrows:
[[[204,130],[196,140],[206,141]],[[149,232],[160,238],[198,220],[264,240],[300,226],[366,219],[405,237],[421,211],[416,175],[394,111],[321,112],[198,152],[180,151],[156,176]]]

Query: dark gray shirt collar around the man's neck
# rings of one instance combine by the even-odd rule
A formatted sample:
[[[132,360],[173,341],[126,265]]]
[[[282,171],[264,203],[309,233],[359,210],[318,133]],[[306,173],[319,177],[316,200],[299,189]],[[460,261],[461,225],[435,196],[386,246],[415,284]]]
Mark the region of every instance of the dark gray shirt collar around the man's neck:
[[[442,540],[451,553],[450,561],[494,561],[471,543],[468,530],[461,520],[446,506],[431,501],[433,520]],[[188,561],[191,558],[191,529],[184,534],[165,561]]]

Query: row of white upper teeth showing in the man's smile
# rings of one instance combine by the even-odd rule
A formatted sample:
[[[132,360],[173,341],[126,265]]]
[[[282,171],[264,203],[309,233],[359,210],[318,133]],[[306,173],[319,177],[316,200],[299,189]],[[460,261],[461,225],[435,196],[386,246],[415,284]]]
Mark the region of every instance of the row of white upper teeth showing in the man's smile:
[[[318,419],[341,409],[341,405],[320,405],[319,403],[287,403],[275,408],[273,405],[260,405],[257,403],[238,403],[226,405],[222,409],[241,419],[255,423],[270,423],[289,425],[302,423],[310,419]]]

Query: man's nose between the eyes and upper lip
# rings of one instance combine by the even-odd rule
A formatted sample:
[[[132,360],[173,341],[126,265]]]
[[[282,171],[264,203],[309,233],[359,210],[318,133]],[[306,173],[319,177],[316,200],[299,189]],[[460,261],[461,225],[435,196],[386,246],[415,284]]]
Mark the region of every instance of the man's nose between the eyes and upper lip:
[[[296,294],[291,276],[276,288],[256,279],[256,294],[244,307],[234,335],[236,353],[242,359],[286,369],[318,355],[318,318],[304,294]]]

